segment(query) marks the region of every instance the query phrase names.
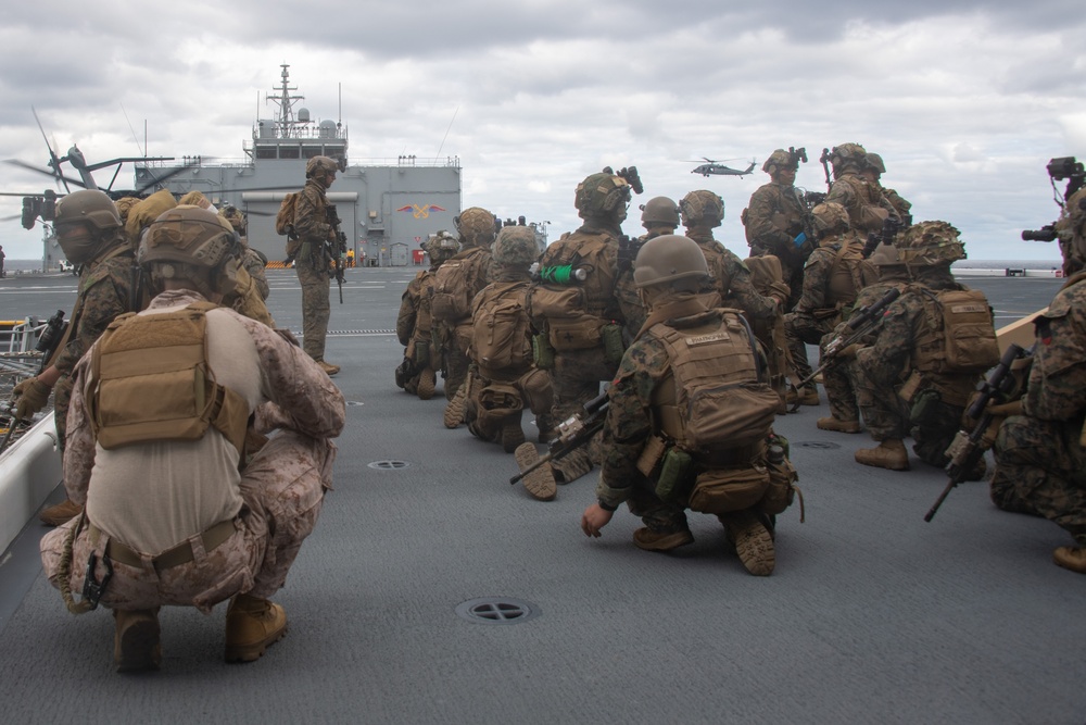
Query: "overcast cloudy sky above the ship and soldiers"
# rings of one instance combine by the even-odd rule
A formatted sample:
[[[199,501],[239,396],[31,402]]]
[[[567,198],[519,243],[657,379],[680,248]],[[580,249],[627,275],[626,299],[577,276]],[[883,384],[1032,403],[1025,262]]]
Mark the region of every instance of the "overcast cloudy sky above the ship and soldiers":
[[[58,151],[76,142],[91,162],[241,161],[289,63],[315,120],[338,120],[342,95],[352,163],[458,157],[465,208],[550,221],[552,239],[578,225],[580,179],[634,164],[645,193],[627,233],[636,204],[708,188],[727,207],[718,238],[745,254],[738,215],[766,157],[806,147],[797,184],[824,190],[822,148],[855,141],[971,259],[1056,260],[1019,235],[1058,213],[1048,160],[1086,159],[1079,0],[59,0],[5,3],[0,21],[0,159],[48,160],[33,105]],[[692,175],[702,157],[758,166]],[[0,190],[49,184],[0,166]],[[0,216],[20,203],[0,198]],[[40,255],[17,220],[0,243]]]

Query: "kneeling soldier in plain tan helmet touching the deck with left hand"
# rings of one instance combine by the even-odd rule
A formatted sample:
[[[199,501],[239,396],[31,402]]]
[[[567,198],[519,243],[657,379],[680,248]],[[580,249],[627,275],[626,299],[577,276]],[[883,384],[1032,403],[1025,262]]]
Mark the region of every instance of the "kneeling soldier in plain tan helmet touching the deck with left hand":
[[[624,502],[645,524],[634,545],[671,551],[694,540],[687,508],[716,514],[743,566],[768,576],[772,517],[792,501],[795,468],[773,436],[778,396],[754,334],[734,311],[709,307],[708,275],[685,237],[637,253],[648,320],[608,389],[596,501],[581,528],[598,537]]]

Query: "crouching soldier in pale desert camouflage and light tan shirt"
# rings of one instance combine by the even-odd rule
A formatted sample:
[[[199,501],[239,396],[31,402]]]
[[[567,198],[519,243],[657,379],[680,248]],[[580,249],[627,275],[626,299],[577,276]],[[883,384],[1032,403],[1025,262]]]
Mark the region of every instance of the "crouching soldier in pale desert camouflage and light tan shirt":
[[[217,304],[240,254],[215,213],[164,213],[139,250],[150,308],[74,371],[64,485],[86,511],[46,535],[42,565],[73,613],[113,611],[118,672],[160,667],[162,607],[227,599],[225,659],[258,659],[287,633],[268,598],[331,486],[343,397],[289,333]],[[276,434],[249,451],[251,429]]]

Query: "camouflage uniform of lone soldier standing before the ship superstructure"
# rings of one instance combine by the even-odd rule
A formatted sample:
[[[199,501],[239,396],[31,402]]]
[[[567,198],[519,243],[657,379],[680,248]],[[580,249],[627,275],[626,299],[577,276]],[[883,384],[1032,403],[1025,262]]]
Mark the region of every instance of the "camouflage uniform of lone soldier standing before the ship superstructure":
[[[325,359],[325,338],[331,304],[328,245],[333,229],[328,223],[328,197],[315,178],[305,179],[294,208],[294,233],[302,246],[294,258],[294,272],[302,286],[302,349],[316,361]]]

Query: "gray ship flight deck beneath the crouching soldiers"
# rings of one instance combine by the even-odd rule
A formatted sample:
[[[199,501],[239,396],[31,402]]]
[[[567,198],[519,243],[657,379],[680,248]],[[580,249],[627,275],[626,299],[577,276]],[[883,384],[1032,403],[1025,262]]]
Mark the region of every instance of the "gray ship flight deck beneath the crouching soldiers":
[[[691,515],[696,541],[674,554],[636,549],[624,509],[590,540],[595,475],[534,501],[507,483],[512,455],[443,427],[440,393],[393,385],[416,272],[351,270],[343,305],[333,287],[327,357],[348,426],[336,489],[276,597],[288,636],[228,665],[225,605],[168,608],[162,671],[118,675],[109,611],[65,611],[30,522],[0,561],[5,722],[1086,722],[1086,576],[1051,563],[1071,543],[1055,524],[996,510],[983,483],[925,524],[942,472],[915,457],[910,473],[860,466],[868,436],[818,430],[823,402],[778,418],[807,522],[798,505],[779,517],[771,577],[746,574],[710,516]],[[299,330],[293,273],[268,277],[273,314]],[[967,282],[997,325],[1059,288]],[[47,316],[74,283],[4,280],[0,309]],[[468,604],[484,598],[495,607]]]

